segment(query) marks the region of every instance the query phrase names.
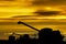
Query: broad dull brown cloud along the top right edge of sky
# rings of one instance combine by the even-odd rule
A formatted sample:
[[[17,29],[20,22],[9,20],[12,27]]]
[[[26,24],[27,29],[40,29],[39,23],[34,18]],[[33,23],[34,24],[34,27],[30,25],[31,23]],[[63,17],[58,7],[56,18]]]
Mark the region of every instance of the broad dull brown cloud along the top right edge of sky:
[[[66,4],[66,0],[35,0],[33,4]]]

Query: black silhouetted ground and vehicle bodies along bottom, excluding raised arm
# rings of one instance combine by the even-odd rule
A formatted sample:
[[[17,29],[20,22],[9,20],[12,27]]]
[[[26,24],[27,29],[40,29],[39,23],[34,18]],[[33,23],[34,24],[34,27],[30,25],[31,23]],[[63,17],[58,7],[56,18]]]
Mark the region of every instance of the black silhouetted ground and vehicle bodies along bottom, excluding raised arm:
[[[0,40],[0,44],[66,44],[63,38],[59,31],[45,28],[38,32],[38,38],[30,38],[28,34],[24,34],[15,40],[14,35],[10,35],[7,41]]]

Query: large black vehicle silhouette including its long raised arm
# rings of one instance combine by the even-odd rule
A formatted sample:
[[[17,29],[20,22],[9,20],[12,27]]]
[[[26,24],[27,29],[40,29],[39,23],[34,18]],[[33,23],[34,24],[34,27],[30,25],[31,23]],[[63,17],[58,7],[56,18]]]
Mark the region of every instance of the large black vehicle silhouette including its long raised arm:
[[[64,36],[61,34],[59,31],[53,31],[53,29],[45,28],[37,30],[29,24],[25,24],[24,22],[19,21],[18,24],[24,24],[35,31],[38,32],[38,43],[37,44],[61,44],[63,43]]]

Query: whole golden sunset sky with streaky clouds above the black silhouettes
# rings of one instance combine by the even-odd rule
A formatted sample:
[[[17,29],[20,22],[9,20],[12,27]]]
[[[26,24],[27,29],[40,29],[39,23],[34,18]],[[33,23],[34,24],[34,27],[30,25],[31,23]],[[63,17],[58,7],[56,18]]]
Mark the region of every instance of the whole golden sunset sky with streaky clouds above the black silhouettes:
[[[35,13],[41,10],[47,13]],[[23,21],[38,30],[52,28],[66,34],[66,0],[0,0],[1,40],[7,38],[12,32],[34,31],[19,25],[18,21]]]

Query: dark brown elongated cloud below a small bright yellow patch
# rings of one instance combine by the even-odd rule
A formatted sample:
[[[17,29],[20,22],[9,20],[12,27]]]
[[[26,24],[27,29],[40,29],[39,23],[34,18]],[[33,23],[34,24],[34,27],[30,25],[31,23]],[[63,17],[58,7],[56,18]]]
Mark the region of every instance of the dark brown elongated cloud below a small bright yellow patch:
[[[45,16],[50,16],[50,15],[57,15],[59,14],[61,12],[59,11],[43,11],[43,10],[38,10],[36,12],[37,15],[45,15]]]

